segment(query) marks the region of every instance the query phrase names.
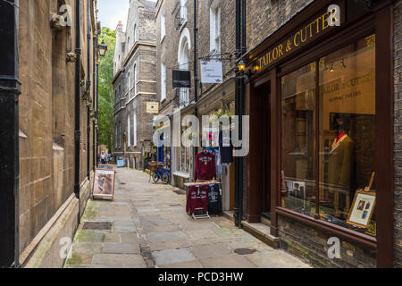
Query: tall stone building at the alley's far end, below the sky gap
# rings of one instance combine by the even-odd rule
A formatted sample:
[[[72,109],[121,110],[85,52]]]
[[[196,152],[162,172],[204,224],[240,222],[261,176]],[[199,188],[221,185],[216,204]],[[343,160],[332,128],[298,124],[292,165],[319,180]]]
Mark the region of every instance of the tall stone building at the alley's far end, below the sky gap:
[[[142,169],[152,151],[153,117],[147,103],[155,102],[155,3],[131,0],[127,28],[116,29],[114,51],[114,157]]]

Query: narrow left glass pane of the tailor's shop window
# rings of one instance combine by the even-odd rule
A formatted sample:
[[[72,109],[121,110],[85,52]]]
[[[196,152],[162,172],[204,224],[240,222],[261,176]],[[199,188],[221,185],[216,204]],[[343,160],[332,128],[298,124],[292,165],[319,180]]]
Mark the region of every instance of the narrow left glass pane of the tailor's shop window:
[[[282,206],[315,214],[315,67],[281,79]]]

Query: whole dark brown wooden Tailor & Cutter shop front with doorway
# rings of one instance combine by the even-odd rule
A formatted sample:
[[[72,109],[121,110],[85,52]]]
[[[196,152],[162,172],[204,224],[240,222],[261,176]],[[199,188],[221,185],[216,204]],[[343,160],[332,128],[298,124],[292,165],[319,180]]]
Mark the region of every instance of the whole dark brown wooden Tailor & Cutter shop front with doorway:
[[[314,1],[245,58],[247,221],[315,266],[393,265],[392,1],[362,3]]]

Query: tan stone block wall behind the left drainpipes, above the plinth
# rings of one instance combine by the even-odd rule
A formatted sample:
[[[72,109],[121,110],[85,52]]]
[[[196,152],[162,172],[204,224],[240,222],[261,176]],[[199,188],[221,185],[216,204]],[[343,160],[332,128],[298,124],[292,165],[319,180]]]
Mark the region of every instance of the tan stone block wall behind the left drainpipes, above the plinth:
[[[75,1],[65,1],[72,7],[72,27],[60,31],[50,27],[57,3],[20,3],[20,252],[34,243],[74,189],[75,63],[66,62],[66,51],[74,52],[75,48]],[[93,30],[88,42],[86,1],[81,2],[81,9],[81,66],[83,78],[88,80],[93,75]],[[96,80],[90,81],[96,84]],[[87,125],[87,106],[82,100],[80,182],[88,181],[88,152],[91,170],[93,164],[93,124],[90,122],[89,146]],[[87,198],[88,194],[81,203]]]

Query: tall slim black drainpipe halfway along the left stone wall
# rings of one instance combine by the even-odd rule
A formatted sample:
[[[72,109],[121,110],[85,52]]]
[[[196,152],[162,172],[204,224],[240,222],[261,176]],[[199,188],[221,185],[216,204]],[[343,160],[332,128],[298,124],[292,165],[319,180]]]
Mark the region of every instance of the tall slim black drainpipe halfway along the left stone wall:
[[[74,167],[74,193],[75,197],[80,199],[80,79],[81,79],[81,48],[80,48],[80,0],[75,0],[75,167]],[[79,204],[80,207],[80,204]],[[80,211],[79,211],[80,222]]]

